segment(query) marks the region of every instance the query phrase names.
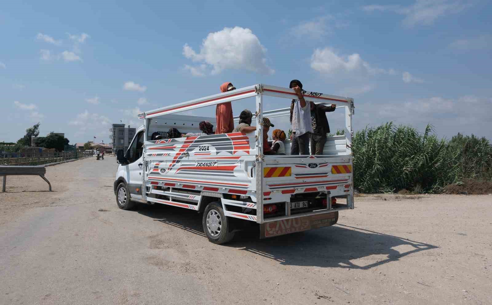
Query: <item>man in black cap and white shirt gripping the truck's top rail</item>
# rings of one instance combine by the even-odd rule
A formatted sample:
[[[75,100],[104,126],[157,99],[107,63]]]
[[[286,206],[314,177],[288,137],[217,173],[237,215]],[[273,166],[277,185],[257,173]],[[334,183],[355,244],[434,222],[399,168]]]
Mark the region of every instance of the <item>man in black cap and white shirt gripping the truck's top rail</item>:
[[[311,107],[301,92],[303,84],[294,79],[289,88],[293,89],[298,99],[290,104],[290,123],[292,124],[292,146],[290,154],[309,154],[309,134],[313,132],[311,125]]]

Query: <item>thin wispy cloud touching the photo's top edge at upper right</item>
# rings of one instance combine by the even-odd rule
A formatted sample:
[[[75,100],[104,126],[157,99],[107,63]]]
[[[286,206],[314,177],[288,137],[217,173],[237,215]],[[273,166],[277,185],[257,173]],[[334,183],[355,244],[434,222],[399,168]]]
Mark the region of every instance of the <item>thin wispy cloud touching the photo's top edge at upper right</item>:
[[[438,18],[457,14],[470,5],[470,2],[461,0],[416,0],[408,6],[371,4],[362,9],[366,12],[389,11],[404,15],[403,25],[412,27],[418,24],[430,25]]]

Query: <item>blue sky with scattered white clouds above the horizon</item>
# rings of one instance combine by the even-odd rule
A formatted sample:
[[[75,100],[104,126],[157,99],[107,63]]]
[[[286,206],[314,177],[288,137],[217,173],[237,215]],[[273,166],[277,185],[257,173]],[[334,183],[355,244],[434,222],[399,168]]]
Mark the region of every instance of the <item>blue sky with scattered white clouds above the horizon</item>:
[[[2,5],[0,141],[41,122],[41,135],[65,132],[71,144],[108,142],[110,124],[139,125],[139,110],[218,93],[225,81],[293,78],[353,97],[356,130],[429,122],[439,136],[492,139],[490,1],[60,3]],[[329,120],[342,127],[341,111]]]

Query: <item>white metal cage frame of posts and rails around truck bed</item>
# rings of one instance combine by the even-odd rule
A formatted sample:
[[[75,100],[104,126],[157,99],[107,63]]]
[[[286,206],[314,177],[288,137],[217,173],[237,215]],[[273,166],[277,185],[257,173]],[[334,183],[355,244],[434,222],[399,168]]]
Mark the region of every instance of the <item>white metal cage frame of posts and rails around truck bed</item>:
[[[330,104],[335,104],[339,107],[343,107],[345,109],[345,134],[344,134],[344,151],[339,152],[339,155],[324,155],[325,157],[338,157],[334,158],[337,160],[343,160],[346,164],[350,165],[350,169],[352,168],[352,151],[351,151],[351,145],[352,145],[352,136],[353,136],[353,128],[352,128],[352,115],[354,114],[354,101],[352,98],[348,97],[342,97],[342,96],[336,96],[336,95],[329,95],[321,92],[315,92],[315,91],[307,91],[307,90],[302,90],[302,94],[305,97],[307,101],[311,101],[314,103],[330,103]],[[256,111],[253,113],[253,118],[256,119],[257,123],[256,124],[256,132],[255,132],[255,137],[254,137],[254,143],[255,143],[255,149],[257,154],[255,155],[255,160],[256,162],[254,165],[255,168],[255,177],[256,177],[256,185],[255,185],[255,190],[256,192],[256,216],[250,217],[247,220],[253,220],[256,221],[257,223],[265,223],[269,221],[275,221],[275,220],[282,220],[282,219],[289,219],[289,218],[295,218],[296,215],[290,215],[287,214],[283,217],[275,217],[272,219],[264,219],[264,213],[263,213],[263,194],[260,194],[259,192],[263,190],[264,188],[264,165],[267,162],[273,162],[269,161],[269,158],[267,157],[267,162],[265,161],[265,155],[263,154],[263,141],[258,140],[258,139],[263,139],[263,128],[262,128],[262,121],[263,117],[278,117],[278,116],[285,116],[286,111],[288,108],[283,108],[283,109],[278,109],[278,110],[272,110],[272,111],[265,111],[263,112],[263,96],[273,96],[273,97],[281,97],[281,98],[286,98],[286,99],[293,99],[297,98],[297,94],[295,93],[294,90],[289,89],[289,88],[282,88],[282,87],[276,87],[276,86],[270,86],[270,85],[264,85],[264,84],[257,84],[254,86],[249,86],[241,89],[236,89],[234,91],[227,91],[224,93],[219,93],[203,98],[198,98],[194,100],[190,100],[184,103],[180,104],[175,104],[171,106],[166,106],[158,109],[154,109],[151,111],[146,111],[144,113],[138,114],[138,118],[144,120],[144,129],[147,130],[148,126],[151,123],[151,119],[158,117],[158,116],[163,116],[163,115],[169,115],[169,114],[175,114],[179,112],[184,112],[184,111],[189,111],[193,109],[198,109],[202,107],[207,107],[207,106],[213,106],[217,105],[220,103],[224,102],[237,102],[239,100],[248,98],[248,97],[255,97],[256,98]],[[148,132],[145,132],[145,138],[144,141],[148,141]],[[342,139],[342,136],[338,136],[337,139]],[[348,156],[348,158],[347,158]],[[279,156],[276,155],[275,158],[278,160],[282,160],[283,158],[291,158],[293,156],[290,155],[285,155],[285,156]],[[312,155],[305,155],[305,156],[297,156],[300,158],[317,158],[317,157],[323,157],[322,156],[312,156]],[[343,159],[343,157],[345,157]],[[144,158],[144,164],[145,163],[145,153],[143,154]],[[283,159],[286,160],[286,159]],[[309,159],[307,159],[309,160]],[[334,161],[336,162],[336,161]],[[340,161],[338,161],[340,162]],[[142,175],[142,186],[144,187],[144,191],[142,191],[142,201],[147,201],[147,192],[145,191],[145,185],[147,181],[147,173],[146,171],[143,171],[144,174]],[[345,197],[347,198],[347,205],[344,208],[341,208],[340,210],[343,209],[353,209],[353,175],[351,175],[351,181],[346,182],[347,184],[345,185],[346,189],[345,190],[347,193],[345,193]],[[328,187],[326,189],[329,189]],[[327,194],[330,192],[327,191]],[[152,199],[152,198],[150,198]],[[331,199],[328,197],[328,207],[331,206]],[[155,201],[158,202],[158,201]],[[329,208],[327,209],[329,210]],[[287,209],[287,208],[286,208]],[[290,209],[289,209],[290,211]],[[321,212],[312,212],[312,213],[306,213],[302,214],[302,216],[314,216],[320,213],[330,213],[331,211],[321,211]],[[241,217],[245,217],[243,215],[240,215]],[[229,214],[228,216],[232,216]],[[297,215],[301,216],[301,215]],[[240,218],[240,217],[238,217]],[[247,218],[247,217],[245,217]]]

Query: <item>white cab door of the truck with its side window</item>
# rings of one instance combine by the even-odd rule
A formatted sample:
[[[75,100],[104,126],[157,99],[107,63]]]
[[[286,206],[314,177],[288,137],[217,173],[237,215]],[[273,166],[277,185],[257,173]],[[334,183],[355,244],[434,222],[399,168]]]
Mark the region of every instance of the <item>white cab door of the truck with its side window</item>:
[[[128,160],[128,190],[132,197],[140,198],[142,195],[142,175],[144,174],[143,164],[143,146],[144,146],[144,132],[140,131],[133,138],[133,141],[126,151],[126,159]]]

